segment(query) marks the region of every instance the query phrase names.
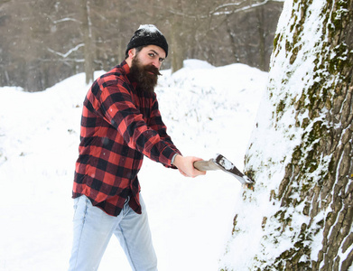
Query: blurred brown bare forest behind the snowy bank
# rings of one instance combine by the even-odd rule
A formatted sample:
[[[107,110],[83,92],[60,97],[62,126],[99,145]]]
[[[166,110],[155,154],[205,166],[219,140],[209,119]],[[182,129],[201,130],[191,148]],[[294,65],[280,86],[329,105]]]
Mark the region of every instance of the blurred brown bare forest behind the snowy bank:
[[[146,23],[170,44],[164,69],[199,59],[268,70],[282,6],[278,0],[1,1],[0,86],[38,91],[82,71],[91,80],[94,70],[124,59],[127,42]]]

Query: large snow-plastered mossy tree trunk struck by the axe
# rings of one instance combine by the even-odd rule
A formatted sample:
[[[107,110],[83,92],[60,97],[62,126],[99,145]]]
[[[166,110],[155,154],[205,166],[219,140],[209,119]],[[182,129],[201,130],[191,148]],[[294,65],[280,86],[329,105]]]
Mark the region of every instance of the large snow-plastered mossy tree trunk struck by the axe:
[[[353,0],[286,0],[222,270],[353,270]]]

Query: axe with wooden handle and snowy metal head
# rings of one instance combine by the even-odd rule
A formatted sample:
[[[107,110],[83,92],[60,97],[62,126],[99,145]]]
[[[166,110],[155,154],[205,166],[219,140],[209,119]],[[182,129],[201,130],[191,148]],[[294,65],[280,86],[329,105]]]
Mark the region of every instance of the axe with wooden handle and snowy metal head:
[[[248,184],[255,183],[245,174],[241,173],[237,167],[231,163],[226,157],[222,154],[217,154],[215,158],[209,159],[209,161],[196,161],[194,167],[200,171],[216,171],[222,170],[226,173],[231,174],[236,177],[239,182],[248,186]]]

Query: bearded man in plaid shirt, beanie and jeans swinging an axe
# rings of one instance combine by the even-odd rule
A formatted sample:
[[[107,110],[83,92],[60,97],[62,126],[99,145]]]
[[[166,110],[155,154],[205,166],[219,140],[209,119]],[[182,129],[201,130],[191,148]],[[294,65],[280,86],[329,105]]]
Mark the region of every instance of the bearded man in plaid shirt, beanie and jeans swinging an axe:
[[[139,172],[144,155],[196,177],[200,158],[183,157],[166,133],[153,89],[168,55],[154,25],[141,25],[120,65],[88,90],[73,185],[70,270],[97,270],[109,239],[119,239],[133,270],[157,270]]]

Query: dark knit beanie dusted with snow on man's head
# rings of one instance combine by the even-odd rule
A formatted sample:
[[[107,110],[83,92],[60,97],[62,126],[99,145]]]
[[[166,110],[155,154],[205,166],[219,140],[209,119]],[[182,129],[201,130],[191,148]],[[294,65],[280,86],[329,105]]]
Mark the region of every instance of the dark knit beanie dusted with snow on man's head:
[[[127,51],[133,48],[147,45],[157,45],[165,51],[165,57],[168,55],[168,43],[165,40],[163,33],[158,30],[153,24],[143,24],[135,31],[134,36],[127,44]]]

